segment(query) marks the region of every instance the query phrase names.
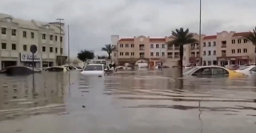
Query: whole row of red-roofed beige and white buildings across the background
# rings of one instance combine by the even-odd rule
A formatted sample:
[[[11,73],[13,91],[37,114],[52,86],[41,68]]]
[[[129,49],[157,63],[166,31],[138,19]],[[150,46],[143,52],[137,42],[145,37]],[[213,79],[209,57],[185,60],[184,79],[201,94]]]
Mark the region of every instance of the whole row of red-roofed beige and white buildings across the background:
[[[255,46],[244,36],[249,32],[236,33],[222,31],[216,35],[201,35],[201,44],[184,45],[183,64],[198,63],[199,65],[243,65],[255,62]],[[194,39],[199,35],[194,33]],[[180,64],[179,45],[168,46],[166,42],[173,37],[133,37],[119,38],[111,36],[112,45],[117,50],[112,53],[112,61],[123,65],[124,63],[147,62],[155,67],[163,62],[167,66]]]

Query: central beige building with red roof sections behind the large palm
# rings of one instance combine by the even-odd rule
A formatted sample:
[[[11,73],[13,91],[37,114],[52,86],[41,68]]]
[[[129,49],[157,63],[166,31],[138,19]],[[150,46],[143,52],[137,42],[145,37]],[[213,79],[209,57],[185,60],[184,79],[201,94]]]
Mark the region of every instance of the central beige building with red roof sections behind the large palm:
[[[199,35],[194,34],[194,37],[199,38]],[[155,67],[163,62],[167,66],[177,66],[180,62],[179,46],[168,47],[165,44],[171,40],[172,37],[145,36],[119,39],[118,35],[112,35],[112,45],[115,45],[117,50],[112,53],[111,59],[120,65],[146,62],[149,63],[149,66]],[[199,43],[185,45],[183,64],[200,62],[199,51]],[[190,53],[193,55],[191,56]]]

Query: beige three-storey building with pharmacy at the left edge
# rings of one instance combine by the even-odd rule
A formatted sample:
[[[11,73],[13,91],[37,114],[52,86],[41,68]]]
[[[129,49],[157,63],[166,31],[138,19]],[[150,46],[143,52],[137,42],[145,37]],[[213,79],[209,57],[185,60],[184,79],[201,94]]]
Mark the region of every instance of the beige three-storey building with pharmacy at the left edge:
[[[0,14],[0,69],[13,65],[32,66],[31,45],[38,49],[34,55],[35,67],[58,65],[59,60],[56,59],[60,52],[65,55],[64,24],[59,25],[57,22],[44,23]]]

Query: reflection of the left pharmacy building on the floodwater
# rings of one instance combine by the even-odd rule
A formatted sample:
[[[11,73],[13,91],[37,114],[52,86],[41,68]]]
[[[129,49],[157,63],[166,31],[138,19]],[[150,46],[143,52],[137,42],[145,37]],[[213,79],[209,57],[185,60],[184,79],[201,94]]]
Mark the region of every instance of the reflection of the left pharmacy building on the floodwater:
[[[34,77],[34,79],[33,79]],[[64,73],[0,77],[0,121],[65,111]]]

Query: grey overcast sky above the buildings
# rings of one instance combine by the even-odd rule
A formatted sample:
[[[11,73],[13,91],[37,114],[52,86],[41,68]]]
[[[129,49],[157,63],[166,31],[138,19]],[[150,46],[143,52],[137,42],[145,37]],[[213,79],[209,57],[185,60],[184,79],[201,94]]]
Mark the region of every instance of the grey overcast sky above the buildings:
[[[66,31],[70,25],[73,57],[78,48],[105,54],[101,47],[111,43],[112,34],[164,37],[180,27],[199,33],[200,0],[0,0],[0,3],[0,12],[15,18],[44,22],[64,18]],[[202,0],[202,34],[251,30],[256,26],[255,5],[255,0]]]

